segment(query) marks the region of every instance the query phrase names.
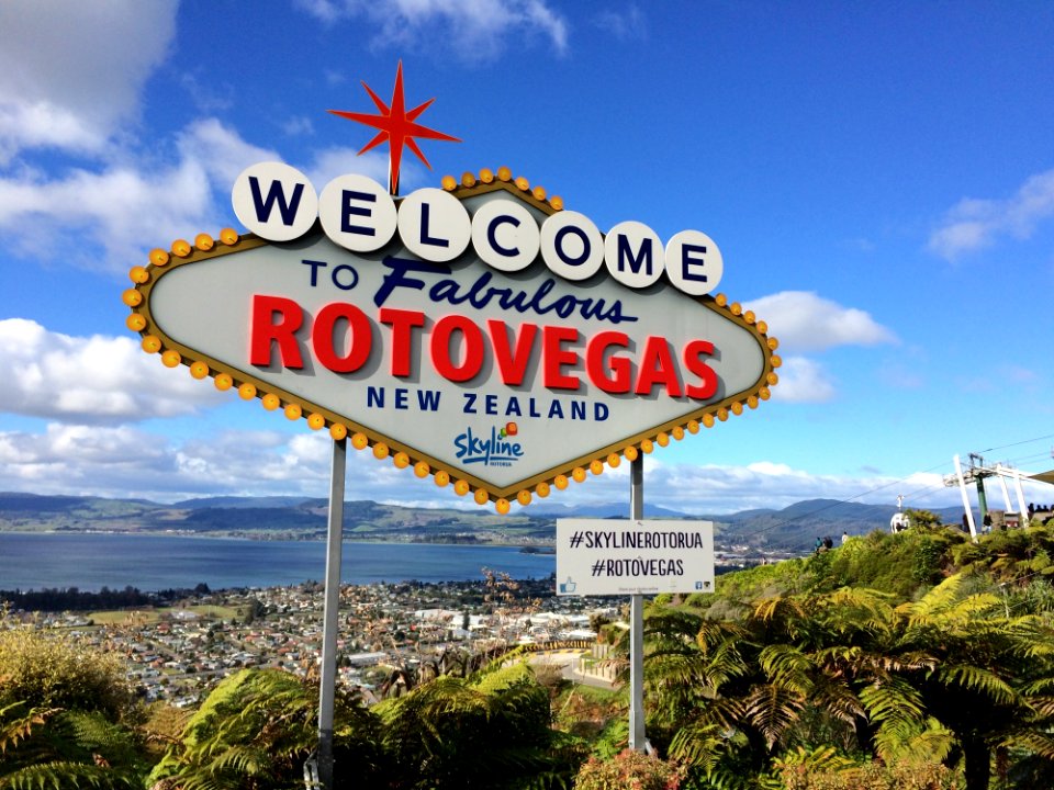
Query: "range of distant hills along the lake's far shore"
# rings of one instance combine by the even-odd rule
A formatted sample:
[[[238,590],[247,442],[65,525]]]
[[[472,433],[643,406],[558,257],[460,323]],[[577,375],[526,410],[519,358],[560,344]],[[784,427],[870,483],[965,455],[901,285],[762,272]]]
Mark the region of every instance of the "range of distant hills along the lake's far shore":
[[[412,508],[371,500],[345,503],[345,532],[363,540],[463,543],[551,540],[558,518],[627,518],[628,503],[596,506],[536,504],[519,514],[453,508]],[[179,532],[261,539],[318,540],[326,533],[327,503],[309,497],[203,497],[162,505],[146,499],[38,496],[0,493],[0,532]],[[782,510],[751,509],[719,516],[689,515],[644,506],[647,518],[703,518],[716,522],[726,550],[806,552],[816,538],[836,540],[845,530],[864,534],[888,529],[890,507],[809,499]],[[962,511],[935,511],[958,523]]]

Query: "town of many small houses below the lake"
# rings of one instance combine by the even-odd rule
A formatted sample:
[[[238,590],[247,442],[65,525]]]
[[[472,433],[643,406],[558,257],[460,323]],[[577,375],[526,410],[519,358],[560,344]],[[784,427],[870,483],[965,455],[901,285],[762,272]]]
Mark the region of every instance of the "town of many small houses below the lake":
[[[620,601],[558,598],[552,585],[551,578],[516,582],[490,572],[483,582],[345,585],[340,681],[371,701],[388,693],[392,678],[427,678],[451,655],[496,657],[526,645],[542,657],[536,661],[558,653],[569,677],[610,685],[607,645],[596,636],[601,624],[617,623]],[[123,656],[143,698],[191,707],[244,667],[316,672],[323,591],[315,583],[198,591],[176,606],[127,611],[9,610],[0,623],[61,630]]]

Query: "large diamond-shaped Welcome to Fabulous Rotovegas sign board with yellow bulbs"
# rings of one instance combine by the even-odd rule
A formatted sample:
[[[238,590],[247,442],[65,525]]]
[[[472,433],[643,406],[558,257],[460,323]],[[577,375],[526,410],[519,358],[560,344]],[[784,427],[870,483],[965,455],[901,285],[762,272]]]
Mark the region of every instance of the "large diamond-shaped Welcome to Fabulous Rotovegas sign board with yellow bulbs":
[[[776,341],[705,234],[602,233],[502,168],[393,198],[278,162],[240,222],[156,249],[124,294],[169,366],[483,505],[528,504],[769,397]]]

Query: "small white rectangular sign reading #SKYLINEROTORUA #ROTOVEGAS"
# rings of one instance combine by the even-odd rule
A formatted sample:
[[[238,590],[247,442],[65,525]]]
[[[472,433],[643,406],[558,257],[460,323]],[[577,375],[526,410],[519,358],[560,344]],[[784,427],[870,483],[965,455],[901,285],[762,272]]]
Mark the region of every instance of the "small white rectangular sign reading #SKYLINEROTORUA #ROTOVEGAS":
[[[711,521],[557,520],[557,595],[713,591]]]

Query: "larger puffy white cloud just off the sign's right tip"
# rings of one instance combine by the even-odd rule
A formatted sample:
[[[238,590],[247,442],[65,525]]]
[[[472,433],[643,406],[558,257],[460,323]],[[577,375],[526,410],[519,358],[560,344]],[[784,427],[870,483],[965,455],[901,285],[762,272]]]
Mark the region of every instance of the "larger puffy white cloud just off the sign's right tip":
[[[782,291],[744,306],[769,324],[770,335],[780,340],[781,353],[897,341],[896,335],[866,311],[843,307],[810,291]]]

